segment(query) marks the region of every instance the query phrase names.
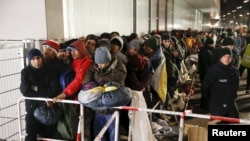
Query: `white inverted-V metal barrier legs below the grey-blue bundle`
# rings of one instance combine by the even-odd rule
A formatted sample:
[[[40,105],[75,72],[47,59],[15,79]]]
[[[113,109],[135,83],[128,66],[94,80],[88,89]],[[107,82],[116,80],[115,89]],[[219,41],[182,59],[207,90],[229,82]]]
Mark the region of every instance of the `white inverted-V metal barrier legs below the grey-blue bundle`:
[[[104,133],[107,131],[108,127],[112,123],[112,121],[115,119],[115,137],[114,141],[118,141],[118,130],[119,130],[119,112],[115,111],[110,119],[107,121],[107,123],[104,125],[102,130],[99,132],[99,134],[95,137],[94,141],[101,141]]]

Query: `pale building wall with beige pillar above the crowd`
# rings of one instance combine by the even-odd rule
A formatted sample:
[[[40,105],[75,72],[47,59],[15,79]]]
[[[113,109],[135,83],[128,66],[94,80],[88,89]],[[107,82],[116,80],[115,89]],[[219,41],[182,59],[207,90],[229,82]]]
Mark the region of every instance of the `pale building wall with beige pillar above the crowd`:
[[[140,35],[152,30],[203,28],[203,21],[196,18],[197,9],[183,0],[136,0],[136,20],[133,19],[133,2],[1,0],[0,39],[61,41],[111,31],[119,31],[122,35],[137,32]],[[203,14],[199,15],[203,19]],[[136,27],[133,27],[134,21]]]

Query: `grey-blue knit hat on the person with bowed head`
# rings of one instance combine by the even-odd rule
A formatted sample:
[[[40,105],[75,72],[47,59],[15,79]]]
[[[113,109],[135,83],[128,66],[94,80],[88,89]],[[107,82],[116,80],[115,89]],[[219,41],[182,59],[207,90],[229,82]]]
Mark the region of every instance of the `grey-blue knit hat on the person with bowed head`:
[[[111,54],[106,47],[98,47],[95,51],[95,63],[105,64],[111,62]]]

